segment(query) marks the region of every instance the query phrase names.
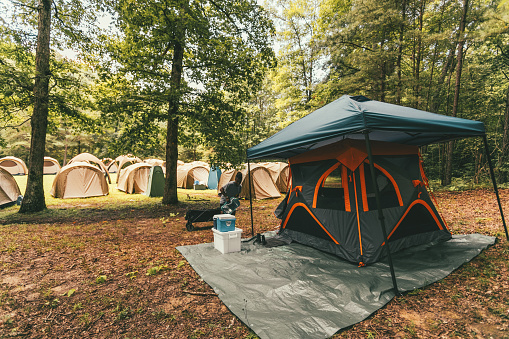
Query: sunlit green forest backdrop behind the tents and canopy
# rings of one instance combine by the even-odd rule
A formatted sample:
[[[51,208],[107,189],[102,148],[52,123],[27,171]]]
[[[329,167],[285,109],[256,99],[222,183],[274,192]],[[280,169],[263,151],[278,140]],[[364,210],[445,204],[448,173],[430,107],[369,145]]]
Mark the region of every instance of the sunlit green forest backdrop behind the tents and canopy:
[[[0,157],[30,166],[42,102],[44,155],[60,163],[89,152],[237,166],[247,148],[350,94],[484,122],[497,181],[509,181],[508,0],[1,4]],[[441,185],[489,178],[481,139],[421,152]]]

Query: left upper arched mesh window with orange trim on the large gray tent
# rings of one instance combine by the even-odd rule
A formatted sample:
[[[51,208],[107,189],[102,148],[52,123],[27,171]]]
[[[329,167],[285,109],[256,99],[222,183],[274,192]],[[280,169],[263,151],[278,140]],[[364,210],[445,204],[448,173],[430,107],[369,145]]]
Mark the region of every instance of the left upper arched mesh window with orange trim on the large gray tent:
[[[345,190],[341,170],[341,166],[338,166],[323,180],[318,189],[316,208],[345,211]]]

